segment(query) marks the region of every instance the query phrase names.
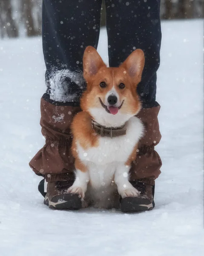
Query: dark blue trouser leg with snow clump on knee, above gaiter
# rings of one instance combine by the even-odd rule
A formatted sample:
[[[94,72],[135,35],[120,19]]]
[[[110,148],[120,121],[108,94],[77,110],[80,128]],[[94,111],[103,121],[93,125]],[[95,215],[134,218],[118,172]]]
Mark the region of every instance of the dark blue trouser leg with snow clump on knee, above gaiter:
[[[58,102],[79,102],[85,87],[84,49],[97,47],[101,0],[43,0],[43,54],[47,93]]]

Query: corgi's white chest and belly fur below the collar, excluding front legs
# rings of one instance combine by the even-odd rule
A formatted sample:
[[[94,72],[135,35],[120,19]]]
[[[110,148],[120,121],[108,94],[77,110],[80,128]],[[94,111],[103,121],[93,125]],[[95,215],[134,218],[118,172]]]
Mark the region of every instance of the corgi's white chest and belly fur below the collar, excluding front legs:
[[[78,157],[87,166],[90,182],[86,195],[98,206],[109,208],[114,206],[115,186],[114,174],[118,166],[125,166],[136,143],[143,134],[143,125],[137,117],[132,117],[125,125],[126,135],[118,137],[99,137],[98,147],[84,150],[78,143]]]

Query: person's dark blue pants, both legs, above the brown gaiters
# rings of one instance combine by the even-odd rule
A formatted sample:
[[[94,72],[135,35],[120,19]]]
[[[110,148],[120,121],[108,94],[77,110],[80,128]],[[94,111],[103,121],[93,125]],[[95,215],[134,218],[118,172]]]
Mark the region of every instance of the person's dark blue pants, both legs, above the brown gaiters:
[[[79,105],[84,49],[97,48],[102,0],[43,0],[43,53],[47,92],[55,105]],[[158,105],[156,71],[160,64],[160,0],[105,0],[109,66],[117,67],[137,48],[145,67],[138,85],[144,108]]]

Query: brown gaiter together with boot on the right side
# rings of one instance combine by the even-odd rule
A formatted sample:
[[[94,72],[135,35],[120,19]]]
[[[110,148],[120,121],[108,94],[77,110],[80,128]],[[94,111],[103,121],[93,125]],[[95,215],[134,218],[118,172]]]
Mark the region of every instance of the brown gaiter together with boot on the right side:
[[[154,189],[155,179],[161,171],[161,159],[155,151],[155,145],[161,140],[158,124],[160,106],[143,108],[138,113],[138,118],[144,124],[144,137],[138,145],[138,153],[132,161],[130,169],[130,183],[138,189],[138,197],[126,197],[121,199],[122,212],[139,212],[151,210],[155,207]]]

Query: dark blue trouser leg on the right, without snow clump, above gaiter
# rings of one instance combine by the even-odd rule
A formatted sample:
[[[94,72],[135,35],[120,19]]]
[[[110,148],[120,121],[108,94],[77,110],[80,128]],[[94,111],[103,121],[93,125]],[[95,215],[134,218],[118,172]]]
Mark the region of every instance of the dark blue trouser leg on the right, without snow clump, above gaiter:
[[[134,49],[142,49],[145,66],[138,85],[144,108],[158,106],[156,71],[160,64],[160,0],[106,0],[109,66],[119,66]]]

